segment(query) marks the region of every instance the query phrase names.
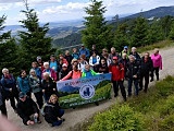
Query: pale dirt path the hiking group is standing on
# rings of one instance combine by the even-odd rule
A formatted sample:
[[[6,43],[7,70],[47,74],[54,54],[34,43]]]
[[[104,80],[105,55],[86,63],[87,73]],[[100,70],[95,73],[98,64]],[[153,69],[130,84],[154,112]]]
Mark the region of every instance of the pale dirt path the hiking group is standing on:
[[[166,48],[160,51],[163,58],[163,70],[160,71],[160,79],[165,78],[167,74],[173,75],[174,74],[174,48]],[[156,79],[154,79],[156,80]],[[152,84],[152,83],[151,83]],[[12,108],[9,105],[9,102],[7,102],[7,107],[8,107],[8,115],[9,119],[20,127],[22,131],[69,131],[70,128],[73,129],[73,127],[82,121],[85,121],[87,118],[91,117],[95,112],[98,112],[100,110],[103,110],[111,105],[116,103],[115,98],[105,100],[100,103],[99,106],[96,105],[86,105],[80,108],[76,109],[67,109],[65,110],[64,118],[66,119],[65,122],[60,126],[59,128],[51,128],[44,118],[41,117],[41,124],[36,124],[36,126],[24,126],[22,123],[21,118],[14,114]]]

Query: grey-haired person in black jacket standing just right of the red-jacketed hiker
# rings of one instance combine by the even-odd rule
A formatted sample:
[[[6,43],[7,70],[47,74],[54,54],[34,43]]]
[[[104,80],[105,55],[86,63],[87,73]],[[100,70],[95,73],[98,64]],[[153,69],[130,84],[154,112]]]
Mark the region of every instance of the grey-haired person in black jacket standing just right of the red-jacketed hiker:
[[[140,75],[140,64],[135,60],[134,56],[129,56],[129,62],[127,63],[126,78],[128,79],[128,96],[132,96],[132,85],[134,82],[135,94],[138,95],[138,79]]]

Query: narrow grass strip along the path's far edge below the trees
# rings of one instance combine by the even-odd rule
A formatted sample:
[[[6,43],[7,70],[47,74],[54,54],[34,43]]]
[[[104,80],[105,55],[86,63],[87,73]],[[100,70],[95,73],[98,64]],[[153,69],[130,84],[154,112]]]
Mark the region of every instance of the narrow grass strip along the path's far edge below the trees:
[[[146,52],[147,50],[153,50],[154,48],[166,48],[166,47],[173,47],[174,46],[174,41],[172,40],[162,40],[152,45],[148,45],[145,47],[138,47],[137,51],[138,52]]]

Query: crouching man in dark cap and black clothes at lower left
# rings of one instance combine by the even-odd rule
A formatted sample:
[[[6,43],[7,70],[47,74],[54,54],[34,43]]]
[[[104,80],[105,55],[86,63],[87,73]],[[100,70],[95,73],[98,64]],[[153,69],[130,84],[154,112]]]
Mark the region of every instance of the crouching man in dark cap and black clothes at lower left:
[[[17,103],[17,114],[23,119],[25,126],[41,123],[39,120],[39,109],[36,103],[27,97],[24,93],[20,93],[20,100]],[[32,120],[34,118],[34,120]]]

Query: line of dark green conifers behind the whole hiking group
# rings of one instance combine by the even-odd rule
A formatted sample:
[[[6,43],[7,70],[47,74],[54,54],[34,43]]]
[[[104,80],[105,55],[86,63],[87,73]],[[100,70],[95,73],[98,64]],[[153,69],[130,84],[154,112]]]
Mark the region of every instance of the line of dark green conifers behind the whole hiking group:
[[[134,20],[125,20],[108,24],[103,14],[107,9],[102,1],[90,0],[91,4],[85,8],[85,28],[80,36],[74,35],[71,45],[80,41],[87,48],[96,45],[100,51],[102,48],[115,47],[117,51],[123,46],[146,46],[164,39],[174,39],[174,17],[164,16],[161,19],[147,20],[142,15]],[[21,20],[24,31],[18,31],[17,38],[12,37],[11,31],[3,33],[7,16],[0,19],[0,69],[8,68],[14,75],[18,75],[21,69],[29,69],[32,61],[37,56],[44,60],[49,60],[51,53],[55,53],[57,48],[51,45],[52,38],[47,36],[49,23],[39,25],[39,19],[34,9],[29,9],[25,2],[26,10],[21,11],[25,19]],[[64,39],[63,39],[64,40]],[[66,41],[66,40],[65,40]],[[69,46],[69,44],[64,44]]]

